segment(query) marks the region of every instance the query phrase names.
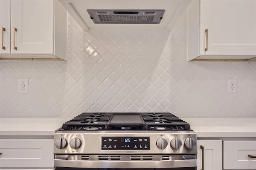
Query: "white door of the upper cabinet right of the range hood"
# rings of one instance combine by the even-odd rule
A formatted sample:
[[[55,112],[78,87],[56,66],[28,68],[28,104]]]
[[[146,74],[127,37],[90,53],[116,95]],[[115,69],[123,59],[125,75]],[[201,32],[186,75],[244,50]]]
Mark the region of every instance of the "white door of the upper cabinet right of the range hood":
[[[256,55],[256,0],[200,2],[201,54]]]

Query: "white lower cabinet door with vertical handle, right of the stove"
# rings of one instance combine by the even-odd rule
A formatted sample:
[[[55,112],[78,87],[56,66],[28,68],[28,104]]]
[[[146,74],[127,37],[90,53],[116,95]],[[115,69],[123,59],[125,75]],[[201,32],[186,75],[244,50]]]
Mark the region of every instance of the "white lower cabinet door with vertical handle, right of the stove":
[[[222,140],[198,140],[197,152],[197,170],[222,170]]]

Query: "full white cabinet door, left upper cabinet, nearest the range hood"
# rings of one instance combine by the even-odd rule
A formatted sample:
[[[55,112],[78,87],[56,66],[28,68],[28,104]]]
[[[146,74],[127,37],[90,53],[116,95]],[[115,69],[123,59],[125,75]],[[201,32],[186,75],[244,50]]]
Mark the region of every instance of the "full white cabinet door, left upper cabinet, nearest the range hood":
[[[53,0],[12,0],[11,53],[52,54],[53,14]]]

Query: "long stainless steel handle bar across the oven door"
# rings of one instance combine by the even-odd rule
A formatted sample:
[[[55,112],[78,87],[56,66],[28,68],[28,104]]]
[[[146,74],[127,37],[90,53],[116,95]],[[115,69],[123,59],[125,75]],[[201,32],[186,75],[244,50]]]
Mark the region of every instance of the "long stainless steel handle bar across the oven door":
[[[56,156],[54,166],[71,168],[184,168],[196,167],[196,158],[191,155],[180,155],[170,156],[169,160],[90,160],[89,158],[76,160],[70,156],[68,160],[64,160]]]

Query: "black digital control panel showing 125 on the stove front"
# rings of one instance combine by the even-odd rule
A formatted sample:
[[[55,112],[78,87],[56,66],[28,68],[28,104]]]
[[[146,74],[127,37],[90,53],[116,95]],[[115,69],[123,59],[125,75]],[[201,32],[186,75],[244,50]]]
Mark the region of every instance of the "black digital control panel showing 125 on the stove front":
[[[102,137],[102,150],[150,150],[149,137]]]

